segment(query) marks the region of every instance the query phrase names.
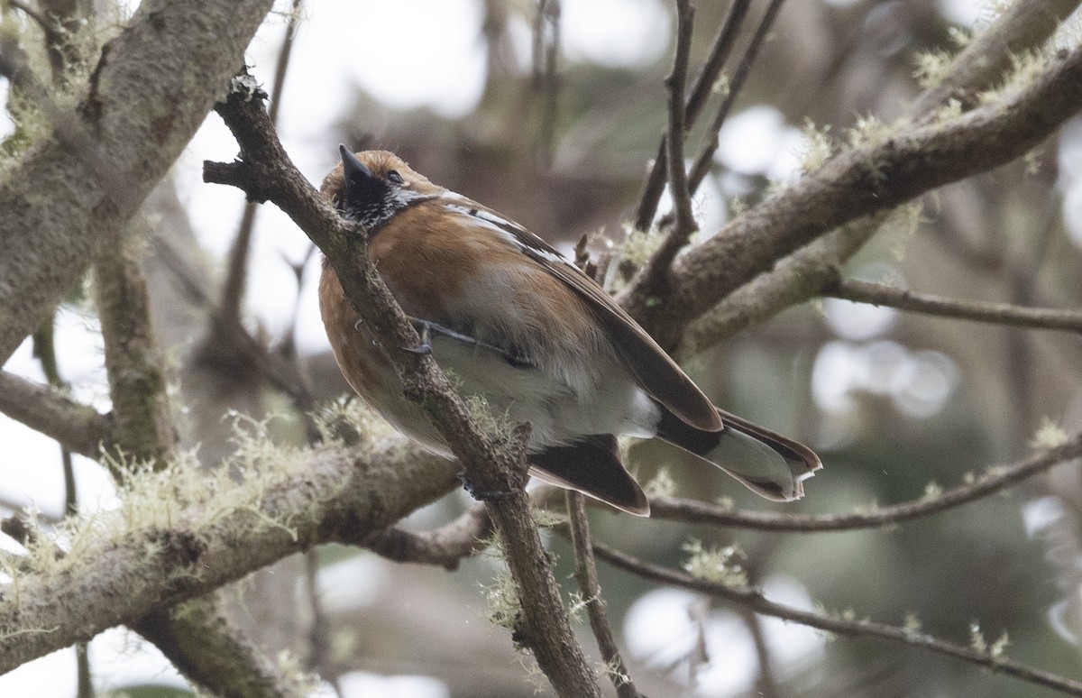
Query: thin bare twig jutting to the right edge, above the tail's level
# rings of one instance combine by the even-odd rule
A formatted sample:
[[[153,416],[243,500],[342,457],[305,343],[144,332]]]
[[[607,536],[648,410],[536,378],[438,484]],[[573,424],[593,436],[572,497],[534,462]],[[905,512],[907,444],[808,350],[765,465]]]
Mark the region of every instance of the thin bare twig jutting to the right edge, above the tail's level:
[[[1024,307],[1011,303],[988,303],[912,293],[906,289],[885,284],[871,284],[857,279],[839,279],[836,284],[823,291],[823,295],[976,322],[1082,332],[1082,312],[1080,311]]]

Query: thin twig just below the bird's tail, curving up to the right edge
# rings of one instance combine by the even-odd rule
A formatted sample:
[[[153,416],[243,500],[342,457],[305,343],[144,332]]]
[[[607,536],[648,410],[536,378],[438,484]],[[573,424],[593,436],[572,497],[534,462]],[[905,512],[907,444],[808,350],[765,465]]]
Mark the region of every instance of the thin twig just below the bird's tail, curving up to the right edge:
[[[935,497],[883,506],[870,512],[818,515],[736,512],[704,502],[658,497],[650,499],[650,516],[775,531],[810,532],[881,528],[968,504],[1043,473],[1054,465],[1080,457],[1082,457],[1082,433],[1071,436],[1059,446],[1033,453],[1011,465],[989,469],[986,475],[978,477],[972,484],[960,485]]]

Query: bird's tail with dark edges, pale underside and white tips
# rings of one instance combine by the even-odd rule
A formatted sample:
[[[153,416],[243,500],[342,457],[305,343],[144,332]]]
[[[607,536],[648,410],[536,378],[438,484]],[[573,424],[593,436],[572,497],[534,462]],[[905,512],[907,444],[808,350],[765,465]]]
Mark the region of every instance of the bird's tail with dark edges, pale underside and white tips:
[[[804,497],[804,480],[822,467],[810,448],[736,414],[717,413],[724,427],[707,432],[662,408],[658,438],[709,461],[761,497],[781,502]]]

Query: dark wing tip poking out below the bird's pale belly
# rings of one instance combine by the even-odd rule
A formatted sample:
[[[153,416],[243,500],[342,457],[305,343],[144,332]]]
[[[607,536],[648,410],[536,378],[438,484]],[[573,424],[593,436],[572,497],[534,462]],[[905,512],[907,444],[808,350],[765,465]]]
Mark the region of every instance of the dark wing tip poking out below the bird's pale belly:
[[[616,436],[596,434],[568,446],[556,446],[529,457],[538,478],[576,489],[637,516],[650,515],[646,495],[620,459]]]

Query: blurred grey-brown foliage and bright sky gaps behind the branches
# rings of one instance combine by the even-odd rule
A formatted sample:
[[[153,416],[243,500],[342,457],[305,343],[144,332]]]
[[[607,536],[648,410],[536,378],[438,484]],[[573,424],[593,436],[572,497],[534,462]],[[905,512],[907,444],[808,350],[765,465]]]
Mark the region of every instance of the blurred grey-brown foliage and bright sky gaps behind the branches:
[[[549,0],[540,21],[539,3],[527,0],[349,4],[301,3],[281,96],[282,139],[314,181],[330,169],[340,141],[393,149],[434,182],[565,250],[583,235],[595,253],[623,249],[665,123],[662,80],[675,25],[669,3]],[[752,4],[755,22],[766,3]],[[796,176],[808,123],[844,142],[863,118],[903,117],[921,91],[919,56],[954,51],[959,36],[994,18],[998,3],[973,4],[786,3],[696,197],[701,235]],[[701,64],[728,5],[697,3],[692,65]],[[254,73],[268,87],[291,10],[282,11],[251,50]],[[21,22],[10,8],[3,15],[5,27],[19,26],[26,40],[34,29]],[[750,34],[749,26],[744,40]],[[428,81],[410,83],[414,73]],[[219,299],[230,255],[237,256],[230,246],[242,207],[235,193],[207,193],[223,187],[199,180],[201,158],[227,159],[236,150],[215,120],[209,118],[207,134],[147,202],[143,223],[154,321],[179,386],[183,437],[200,445],[207,466],[232,448],[232,427],[222,419],[229,410],[256,419],[283,414],[275,421],[280,437],[304,438],[298,391],[290,395],[268,379],[251,348],[212,321],[223,312]],[[695,131],[689,149],[708,136]],[[847,272],[948,297],[1078,307],[1080,148],[1076,119],[1025,161],[924,197],[916,225],[885,228]],[[250,260],[243,327],[274,360],[295,368],[286,374],[305,386],[300,393],[312,405],[347,393],[314,319],[318,260],[307,240],[277,212],[260,211],[243,254]],[[57,322],[65,378],[107,408],[92,308],[75,300]],[[8,368],[38,378],[24,350]],[[824,470],[806,484],[807,498],[778,509],[827,513],[919,499],[933,484],[949,487],[1016,460],[1030,451],[1044,419],[1079,429],[1080,357],[1079,338],[1069,333],[827,300],[790,308],[688,357],[686,367],[718,405],[817,448]],[[0,429],[24,443],[13,423]],[[27,442],[10,451],[5,470],[25,467],[39,447]],[[633,447],[631,462],[643,482],[663,469],[681,496],[771,506],[664,445]],[[104,479],[95,479],[94,467],[80,463],[81,483]],[[13,482],[3,486],[8,506],[24,505],[30,492],[51,511],[55,495]],[[81,496],[84,506],[109,505],[107,487],[97,486],[104,493]],[[449,496],[409,526],[431,528],[470,503],[462,493]],[[886,530],[717,530],[599,509],[592,524],[598,539],[676,567],[689,538],[736,543],[752,580],[779,601],[896,624],[909,618],[963,644],[978,624],[989,644],[1007,632],[1011,657],[1079,676],[1080,513],[1082,479],[1077,467],[1060,466],[1004,496]],[[570,550],[555,535],[551,544],[558,578],[570,589]],[[328,695],[333,685],[358,696],[529,696],[535,687],[519,666],[528,660],[485,620],[479,587],[498,569],[488,557],[465,561],[452,574],[330,548],[243,583],[237,614],[268,650],[288,649],[318,670]],[[1052,695],[911,647],[831,642],[604,565],[599,571],[631,672],[648,695]],[[578,628],[592,646],[585,625]],[[110,651],[104,641],[91,645],[102,689],[145,682],[124,679],[116,666],[137,663],[131,657],[149,650],[129,648],[120,659]],[[160,677],[160,663],[145,661],[158,667],[149,675]],[[34,681],[42,688],[35,695],[70,695],[49,693],[44,677]]]

